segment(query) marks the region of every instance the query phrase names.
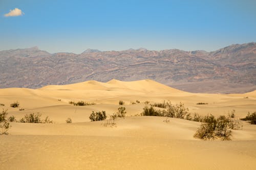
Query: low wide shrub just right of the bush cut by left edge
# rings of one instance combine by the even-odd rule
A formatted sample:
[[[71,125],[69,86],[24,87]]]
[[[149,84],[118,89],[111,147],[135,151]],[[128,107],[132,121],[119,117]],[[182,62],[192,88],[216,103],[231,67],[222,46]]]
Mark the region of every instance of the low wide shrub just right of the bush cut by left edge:
[[[23,118],[19,119],[20,123],[53,123],[52,120],[49,119],[47,116],[45,119],[41,119],[41,114],[40,113],[30,113],[26,114]]]

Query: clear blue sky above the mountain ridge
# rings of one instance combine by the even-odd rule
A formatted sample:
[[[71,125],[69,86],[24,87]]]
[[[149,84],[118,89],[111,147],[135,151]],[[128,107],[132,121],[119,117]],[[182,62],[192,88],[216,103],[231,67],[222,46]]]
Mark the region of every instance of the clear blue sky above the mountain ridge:
[[[255,0],[0,0],[0,15],[0,51],[214,51],[256,41]]]

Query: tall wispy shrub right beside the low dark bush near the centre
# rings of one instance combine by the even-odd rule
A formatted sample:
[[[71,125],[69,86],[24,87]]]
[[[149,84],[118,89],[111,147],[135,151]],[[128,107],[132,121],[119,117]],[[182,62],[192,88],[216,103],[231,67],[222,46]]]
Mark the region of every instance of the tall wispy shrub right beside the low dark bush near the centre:
[[[184,107],[184,104],[181,102],[179,104],[173,105],[171,102],[166,102],[166,111],[164,111],[164,116],[182,118],[188,113],[188,108]]]

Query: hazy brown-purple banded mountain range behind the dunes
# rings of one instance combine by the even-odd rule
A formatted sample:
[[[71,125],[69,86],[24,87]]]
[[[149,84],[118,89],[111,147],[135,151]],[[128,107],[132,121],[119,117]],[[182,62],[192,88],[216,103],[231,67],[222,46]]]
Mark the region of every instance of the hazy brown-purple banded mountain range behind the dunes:
[[[214,52],[131,48],[50,54],[38,47],[0,52],[0,88],[112,79],[152,79],[189,92],[248,92],[256,89],[256,43],[233,44]]]

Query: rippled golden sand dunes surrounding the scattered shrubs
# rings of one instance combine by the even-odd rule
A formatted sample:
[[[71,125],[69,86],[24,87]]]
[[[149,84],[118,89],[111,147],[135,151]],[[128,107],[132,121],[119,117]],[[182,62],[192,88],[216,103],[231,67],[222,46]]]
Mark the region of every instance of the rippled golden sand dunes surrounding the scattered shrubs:
[[[96,105],[73,106],[70,101]],[[126,117],[114,127],[90,122],[92,111],[117,111],[125,102]],[[140,103],[132,104],[132,102]],[[40,89],[0,89],[0,106],[17,120],[29,113],[49,116],[53,124],[11,123],[0,136],[0,169],[255,169],[256,125],[243,122],[231,141],[193,137],[201,123],[184,119],[138,116],[150,103],[184,103],[191,114],[237,118],[256,110],[256,91],[203,94],[180,91],[152,80],[108,83],[87,81]],[[10,104],[18,101],[18,108]],[[208,105],[197,105],[198,102]],[[19,109],[24,110],[20,111]],[[71,124],[66,119],[72,119]]]

